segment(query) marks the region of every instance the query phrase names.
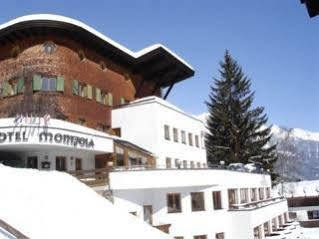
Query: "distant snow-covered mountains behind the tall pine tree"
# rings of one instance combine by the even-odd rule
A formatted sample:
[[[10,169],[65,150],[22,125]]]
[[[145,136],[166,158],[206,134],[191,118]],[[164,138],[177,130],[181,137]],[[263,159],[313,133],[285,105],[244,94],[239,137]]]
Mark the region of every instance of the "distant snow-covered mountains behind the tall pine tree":
[[[208,113],[198,115],[197,118],[206,122]],[[271,132],[272,141],[279,142],[286,137],[289,129],[273,125]],[[290,142],[294,145],[301,157],[302,163],[294,174],[301,180],[319,179],[319,132],[311,132],[299,128],[290,130]],[[281,150],[279,145],[279,150]]]

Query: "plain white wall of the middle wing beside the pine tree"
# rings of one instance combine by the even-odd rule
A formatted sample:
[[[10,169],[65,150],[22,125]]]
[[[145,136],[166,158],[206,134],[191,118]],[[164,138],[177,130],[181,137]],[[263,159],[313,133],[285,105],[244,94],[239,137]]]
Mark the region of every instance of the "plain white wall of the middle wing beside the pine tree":
[[[129,119],[129,120],[128,120]],[[164,137],[164,125],[169,126],[170,140]],[[112,126],[121,128],[122,137],[153,152],[157,157],[157,166],[165,167],[166,158],[171,158],[175,167],[178,159],[183,167],[183,160],[206,164],[206,150],[201,139],[204,124],[197,118],[188,115],[168,102],[148,97],[132,102],[112,111]],[[174,142],[173,128],[178,130],[178,142]],[[182,143],[181,131],[186,133],[186,144]],[[189,145],[188,133],[192,133],[193,146]],[[199,147],[195,145],[195,135],[199,138]]]

